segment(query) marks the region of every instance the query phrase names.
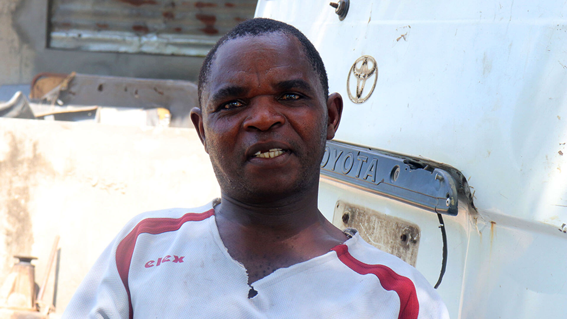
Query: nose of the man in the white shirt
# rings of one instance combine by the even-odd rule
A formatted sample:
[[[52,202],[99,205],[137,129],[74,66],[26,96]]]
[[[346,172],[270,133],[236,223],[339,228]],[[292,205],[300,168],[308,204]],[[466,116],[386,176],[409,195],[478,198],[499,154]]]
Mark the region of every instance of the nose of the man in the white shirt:
[[[268,131],[284,125],[286,119],[281,113],[281,105],[277,101],[261,96],[251,101],[249,115],[244,120],[244,129],[248,131]]]

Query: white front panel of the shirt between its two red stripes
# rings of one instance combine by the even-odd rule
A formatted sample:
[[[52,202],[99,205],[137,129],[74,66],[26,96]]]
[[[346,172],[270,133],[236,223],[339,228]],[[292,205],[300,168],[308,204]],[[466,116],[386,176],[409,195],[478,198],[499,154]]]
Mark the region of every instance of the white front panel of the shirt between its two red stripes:
[[[397,317],[397,295],[342,267],[334,252],[252,282],[257,295],[248,298],[246,269],[213,238],[178,239],[138,238],[128,276],[134,318]]]

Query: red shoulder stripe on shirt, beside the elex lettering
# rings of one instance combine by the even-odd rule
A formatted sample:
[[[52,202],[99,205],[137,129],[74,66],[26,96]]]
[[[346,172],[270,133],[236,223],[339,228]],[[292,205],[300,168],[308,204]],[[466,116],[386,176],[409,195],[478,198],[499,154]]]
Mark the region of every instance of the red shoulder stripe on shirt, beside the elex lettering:
[[[128,272],[130,271],[130,262],[132,262],[132,254],[134,253],[134,246],[136,246],[136,240],[138,235],[141,233],[149,234],[161,234],[165,232],[172,232],[181,228],[187,221],[201,221],[208,219],[210,216],[214,215],[214,209],[211,208],[209,211],[203,213],[187,213],[180,218],[147,218],[140,221],[132,231],[124,237],[120,244],[116,247],[116,267],[118,268],[118,274],[120,279],[122,279],[122,284],[126,288],[126,293],[128,293],[128,304],[129,304],[129,317],[134,318],[134,310],[132,308],[132,298],[130,297],[130,288],[128,287]]]

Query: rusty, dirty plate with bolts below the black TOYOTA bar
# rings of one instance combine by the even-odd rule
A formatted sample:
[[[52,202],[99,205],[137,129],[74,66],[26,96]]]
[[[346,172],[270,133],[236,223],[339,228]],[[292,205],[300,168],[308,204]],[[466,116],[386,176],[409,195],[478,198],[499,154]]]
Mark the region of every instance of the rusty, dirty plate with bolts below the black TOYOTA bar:
[[[338,200],[333,225],[341,229],[354,228],[369,244],[416,266],[421,234],[416,224]]]

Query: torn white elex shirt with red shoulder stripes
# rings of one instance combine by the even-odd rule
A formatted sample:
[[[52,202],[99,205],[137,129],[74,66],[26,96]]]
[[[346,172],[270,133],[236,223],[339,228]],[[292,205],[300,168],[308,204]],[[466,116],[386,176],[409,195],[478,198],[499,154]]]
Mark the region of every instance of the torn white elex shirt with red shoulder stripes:
[[[147,212],[104,250],[63,318],[448,318],[420,272],[358,234],[251,286],[211,203]]]

